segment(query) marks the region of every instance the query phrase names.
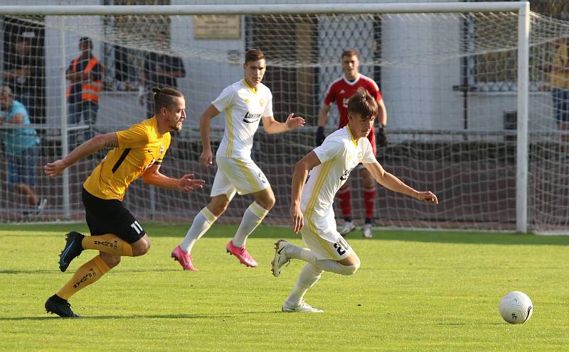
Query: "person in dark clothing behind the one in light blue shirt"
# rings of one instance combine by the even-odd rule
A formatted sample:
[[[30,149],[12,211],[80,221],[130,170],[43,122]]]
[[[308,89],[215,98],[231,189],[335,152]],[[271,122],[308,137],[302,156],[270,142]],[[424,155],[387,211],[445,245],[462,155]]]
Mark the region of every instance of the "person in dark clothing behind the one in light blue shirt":
[[[4,60],[2,77],[14,93],[14,99],[26,106],[28,113],[35,116],[36,91],[38,84],[38,57],[32,55],[31,40],[33,32],[24,32],[16,38],[14,48],[11,48]]]

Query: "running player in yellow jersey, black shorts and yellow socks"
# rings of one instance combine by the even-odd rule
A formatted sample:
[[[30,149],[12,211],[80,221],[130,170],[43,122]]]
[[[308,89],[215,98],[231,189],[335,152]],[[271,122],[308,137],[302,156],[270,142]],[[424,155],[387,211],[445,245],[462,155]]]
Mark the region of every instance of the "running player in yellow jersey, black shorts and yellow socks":
[[[150,248],[146,231],[122,205],[129,184],[142,176],[144,183],[161,188],[191,192],[202,188],[203,180],[193,174],[179,179],[162,175],[160,164],[170,145],[170,131],[180,131],[186,119],[184,95],[171,87],[154,88],[154,116],[127,130],[95,136],[79,145],[67,157],[48,163],[46,175],[60,175],[66,167],[102,148],[112,148],[83,184],[85,218],[91,236],[72,231],[67,234],[60,254],[59,268],[67,270],[71,260],[85,249],[99,255],[83,264],[55,295],[46,301],[46,311],[60,317],[78,317],[69,297],[100,279],[126,255],[144,255]]]

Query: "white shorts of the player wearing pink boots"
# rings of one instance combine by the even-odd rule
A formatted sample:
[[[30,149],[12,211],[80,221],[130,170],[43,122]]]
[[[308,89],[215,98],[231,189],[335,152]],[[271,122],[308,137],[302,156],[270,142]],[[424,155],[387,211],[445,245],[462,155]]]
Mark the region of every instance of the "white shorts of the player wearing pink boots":
[[[231,200],[235,192],[250,194],[270,187],[267,177],[251,159],[216,157],[218,171],[211,186],[211,197],[226,194]]]

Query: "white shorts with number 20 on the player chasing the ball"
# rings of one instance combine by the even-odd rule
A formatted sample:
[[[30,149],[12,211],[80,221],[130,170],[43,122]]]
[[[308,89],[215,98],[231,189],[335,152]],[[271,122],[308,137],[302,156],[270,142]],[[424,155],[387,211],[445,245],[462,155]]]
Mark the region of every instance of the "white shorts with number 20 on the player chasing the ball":
[[[344,260],[353,252],[348,242],[336,230],[334,211],[325,217],[315,214],[304,216],[304,226],[300,230],[304,243],[318,259]]]

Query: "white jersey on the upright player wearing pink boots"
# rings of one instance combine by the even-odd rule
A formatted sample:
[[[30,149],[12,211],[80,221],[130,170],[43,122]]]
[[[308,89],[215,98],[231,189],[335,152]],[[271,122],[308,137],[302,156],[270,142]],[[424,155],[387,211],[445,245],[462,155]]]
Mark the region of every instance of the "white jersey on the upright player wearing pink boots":
[[[225,111],[225,131],[217,156],[222,158],[251,158],[253,135],[262,116],[272,116],[272,94],[265,84],[257,85],[257,92],[245,79],[223,89],[211,104]]]

